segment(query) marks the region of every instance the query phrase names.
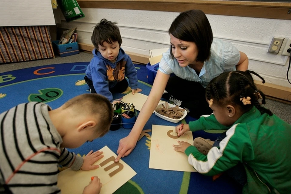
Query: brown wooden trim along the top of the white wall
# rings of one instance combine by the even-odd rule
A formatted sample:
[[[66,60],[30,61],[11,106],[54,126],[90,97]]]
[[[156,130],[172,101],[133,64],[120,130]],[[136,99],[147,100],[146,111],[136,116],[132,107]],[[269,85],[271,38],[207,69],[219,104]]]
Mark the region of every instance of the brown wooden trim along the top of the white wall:
[[[184,12],[201,9],[206,14],[291,20],[291,3],[212,0],[78,0],[81,8],[135,9]]]

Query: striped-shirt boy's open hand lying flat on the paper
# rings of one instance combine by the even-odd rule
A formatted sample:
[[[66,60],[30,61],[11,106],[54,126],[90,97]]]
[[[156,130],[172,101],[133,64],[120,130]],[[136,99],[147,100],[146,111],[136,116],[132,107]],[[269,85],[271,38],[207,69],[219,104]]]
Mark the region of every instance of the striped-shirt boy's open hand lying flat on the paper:
[[[81,170],[93,170],[99,168],[99,165],[92,165],[101,158],[103,158],[103,152],[100,152],[99,150],[96,152],[93,152],[91,150],[85,157],[84,157],[84,162],[82,165]]]

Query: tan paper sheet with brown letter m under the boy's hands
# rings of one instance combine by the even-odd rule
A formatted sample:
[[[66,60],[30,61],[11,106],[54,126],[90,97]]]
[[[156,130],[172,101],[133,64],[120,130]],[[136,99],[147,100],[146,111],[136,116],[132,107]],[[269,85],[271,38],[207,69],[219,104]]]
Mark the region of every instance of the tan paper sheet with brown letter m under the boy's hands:
[[[136,172],[121,159],[115,163],[117,156],[107,146],[100,151],[103,151],[104,157],[95,163],[99,165],[98,169],[89,171],[66,169],[59,173],[58,187],[62,194],[82,194],[92,176],[98,176],[103,185],[100,194],[110,194],[136,175]]]

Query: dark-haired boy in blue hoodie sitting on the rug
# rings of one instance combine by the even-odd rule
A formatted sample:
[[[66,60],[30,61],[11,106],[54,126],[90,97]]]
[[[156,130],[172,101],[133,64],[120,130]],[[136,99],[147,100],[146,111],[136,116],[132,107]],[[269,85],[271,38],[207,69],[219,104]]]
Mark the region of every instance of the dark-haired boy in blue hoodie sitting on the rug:
[[[116,24],[102,19],[95,26],[91,37],[95,46],[94,57],[84,77],[91,93],[104,95],[110,101],[113,101],[112,93],[122,93],[127,89],[125,76],[133,94],[142,91],[137,87],[137,73],[132,60],[120,47],[122,39]]]

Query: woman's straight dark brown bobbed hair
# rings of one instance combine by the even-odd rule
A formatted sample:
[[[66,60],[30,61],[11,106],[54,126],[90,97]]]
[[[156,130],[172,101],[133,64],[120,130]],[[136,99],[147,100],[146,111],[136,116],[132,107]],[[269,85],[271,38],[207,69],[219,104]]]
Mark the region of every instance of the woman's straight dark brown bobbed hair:
[[[213,35],[209,21],[201,10],[182,12],[172,22],[169,34],[183,41],[194,42],[198,48],[196,61],[204,62],[209,59]],[[174,59],[172,46],[170,55]]]

